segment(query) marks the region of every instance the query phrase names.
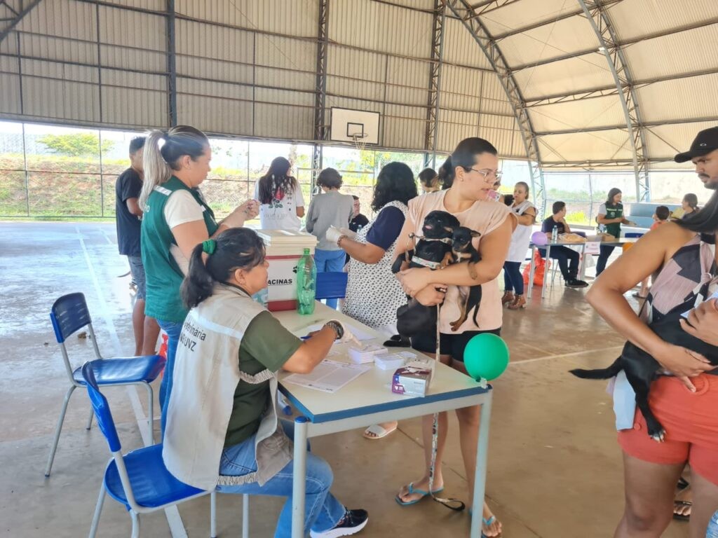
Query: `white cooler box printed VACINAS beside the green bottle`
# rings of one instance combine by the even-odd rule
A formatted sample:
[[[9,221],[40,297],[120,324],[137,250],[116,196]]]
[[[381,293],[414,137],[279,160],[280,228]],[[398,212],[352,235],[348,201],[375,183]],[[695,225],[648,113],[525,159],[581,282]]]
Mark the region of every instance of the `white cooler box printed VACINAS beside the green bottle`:
[[[266,307],[272,311],[297,308],[297,262],[304,249],[314,255],[317,237],[307,232],[256,230],[266,245],[269,275]]]

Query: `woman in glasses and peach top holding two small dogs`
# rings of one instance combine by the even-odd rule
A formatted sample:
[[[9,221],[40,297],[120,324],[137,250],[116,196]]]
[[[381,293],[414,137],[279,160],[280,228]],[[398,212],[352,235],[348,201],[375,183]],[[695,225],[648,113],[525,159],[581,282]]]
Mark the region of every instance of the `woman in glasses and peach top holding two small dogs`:
[[[462,140],[454,153],[442,165],[439,176],[448,179],[451,187],[447,190],[424,194],[409,202],[409,214],[399,235],[396,254],[403,254],[406,245],[411,244],[412,234],[421,235],[424,218],[434,210],[453,214],[462,226],[469,227],[480,236],[474,240],[474,247],[481,260],[474,265],[457,263],[442,270],[416,268],[402,271],[400,280],[404,291],[417,301],[434,306],[442,304],[439,311],[439,353],[445,364],[466,373],[464,349],[476,334],[490,332],[500,334],[503,311],[498,286],[498,275],[506,260],[511,235],[516,227],[516,219],[504,204],[490,201],[493,197],[493,184],[500,176],[496,148],[483,138]],[[446,182],[444,182],[446,184]],[[462,292],[468,286],[482,286],[481,303],[476,312],[468,313],[466,321],[456,330],[452,321],[460,318]],[[460,290],[460,287],[463,288]],[[444,291],[446,290],[446,293]],[[427,331],[411,339],[414,349],[427,354],[437,351],[436,331]],[[480,408],[478,406],[457,409],[459,419],[460,445],[469,486],[469,506],[472,506],[474,476],[476,471],[476,450]],[[424,456],[430,461],[432,450],[432,417],[424,417]],[[442,476],[442,455],[447,439],[448,417],[439,415],[439,443],[437,464],[434,474],[434,488],[441,490],[444,484]],[[424,468],[424,476],[418,481],[404,486],[396,496],[401,505],[415,504],[428,494],[429,468]],[[476,499],[480,506],[482,499]],[[479,514],[475,514],[478,516]],[[482,532],[487,537],[497,537],[501,533],[501,524],[491,513],[487,504],[483,504]]]

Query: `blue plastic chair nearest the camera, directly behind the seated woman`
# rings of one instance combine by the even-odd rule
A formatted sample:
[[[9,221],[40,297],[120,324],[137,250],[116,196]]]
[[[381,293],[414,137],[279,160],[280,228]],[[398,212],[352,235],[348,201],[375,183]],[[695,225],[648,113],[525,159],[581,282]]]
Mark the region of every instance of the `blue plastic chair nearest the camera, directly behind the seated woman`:
[[[182,483],[167,471],[162,461],[162,443],[122,454],[112,412],[100,392],[95,374],[102,372],[102,360],[85,362],[81,374],[92,403],[97,423],[110,446],[112,459],[107,464],[90,527],[95,538],[106,494],[124,504],[132,517],[132,538],[139,537],[139,515],[162,510],[190,499],[210,494],[210,537],[217,535],[217,499],[215,491],[205,491]]]

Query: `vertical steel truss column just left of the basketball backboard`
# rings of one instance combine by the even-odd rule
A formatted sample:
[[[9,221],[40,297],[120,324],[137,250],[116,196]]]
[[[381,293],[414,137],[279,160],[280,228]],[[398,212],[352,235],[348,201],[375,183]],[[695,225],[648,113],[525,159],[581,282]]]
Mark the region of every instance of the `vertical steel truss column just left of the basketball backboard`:
[[[329,49],[329,0],[319,0],[317,24],[317,83],[314,88],[314,147],[312,148],[312,192],[322,169],[322,142],[327,139],[327,52]]]

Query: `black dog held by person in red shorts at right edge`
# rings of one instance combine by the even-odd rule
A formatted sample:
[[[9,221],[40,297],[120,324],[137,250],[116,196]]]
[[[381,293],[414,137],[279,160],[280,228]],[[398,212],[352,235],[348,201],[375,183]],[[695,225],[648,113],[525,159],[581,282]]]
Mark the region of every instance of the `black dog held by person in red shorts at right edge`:
[[[706,357],[714,366],[718,366],[718,347],[706,344],[681,328],[679,323],[681,312],[686,311],[686,309],[684,303],[679,308],[673,308],[666,316],[648,326],[668,344],[695,351]],[[651,407],[648,405],[648,393],[651,391],[651,383],[659,375],[664,374],[665,371],[661,364],[656,359],[653,359],[651,355],[638,346],[626,342],[621,356],[610,367],[595,370],[574,369],[571,370],[571,373],[582,379],[609,379],[621,370],[625,371],[628,382],[635,391],[635,402],[645,418],[648,435],[660,443],[666,435],[666,430],[663,430],[663,426],[658,422],[656,415],[651,412]],[[714,369],[709,373],[718,375],[718,369]]]

